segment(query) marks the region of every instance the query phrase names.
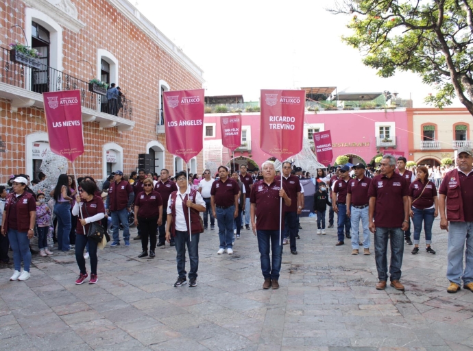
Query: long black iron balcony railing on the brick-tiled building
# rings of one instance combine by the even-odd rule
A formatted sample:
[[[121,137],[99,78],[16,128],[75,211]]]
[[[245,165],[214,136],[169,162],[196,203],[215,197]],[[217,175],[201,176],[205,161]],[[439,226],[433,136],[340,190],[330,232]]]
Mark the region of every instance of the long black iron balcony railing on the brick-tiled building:
[[[42,64],[40,69],[32,69],[23,64],[10,61],[10,50],[1,48],[0,82],[17,86],[34,93],[47,93],[61,90],[80,90],[82,106],[98,112],[112,114],[132,120],[133,104],[125,97],[107,99],[104,95],[88,90],[88,82]]]

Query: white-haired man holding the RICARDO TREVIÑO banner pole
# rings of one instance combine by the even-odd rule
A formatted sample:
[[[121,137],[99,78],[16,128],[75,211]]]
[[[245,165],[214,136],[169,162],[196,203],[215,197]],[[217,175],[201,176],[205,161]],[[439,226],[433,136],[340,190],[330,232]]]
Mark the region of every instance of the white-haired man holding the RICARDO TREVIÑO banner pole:
[[[278,184],[274,180],[276,176],[274,162],[266,161],[261,168],[263,169],[263,180],[253,184],[252,193],[250,195],[250,218],[253,233],[258,239],[261,271],[265,278],[263,289],[269,289],[269,287],[278,289],[279,272],[281,270],[282,261],[280,230],[282,231],[284,229],[284,213],[281,213],[280,210],[280,198],[282,197],[284,204],[290,207],[291,197],[287,195],[287,189],[284,183],[281,189],[281,184]],[[269,260],[270,245],[272,252],[271,260]]]

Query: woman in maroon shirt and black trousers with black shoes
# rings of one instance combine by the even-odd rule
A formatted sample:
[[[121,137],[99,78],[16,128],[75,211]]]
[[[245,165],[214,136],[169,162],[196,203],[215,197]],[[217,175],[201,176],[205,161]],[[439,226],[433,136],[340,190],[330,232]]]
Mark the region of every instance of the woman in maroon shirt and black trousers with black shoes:
[[[148,256],[148,237],[150,243],[149,257],[154,258],[156,247],[156,230],[162,224],[162,198],[158,191],[154,191],[151,178],[143,180],[143,189],[134,199],[134,224],[140,230],[141,247],[143,252],[138,258]]]

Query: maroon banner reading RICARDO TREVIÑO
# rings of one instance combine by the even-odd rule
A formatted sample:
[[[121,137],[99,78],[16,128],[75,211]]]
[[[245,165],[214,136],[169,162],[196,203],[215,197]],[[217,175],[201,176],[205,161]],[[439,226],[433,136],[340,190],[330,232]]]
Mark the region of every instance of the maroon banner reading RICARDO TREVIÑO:
[[[299,154],[304,134],[304,90],[261,90],[260,148],[283,161]]]

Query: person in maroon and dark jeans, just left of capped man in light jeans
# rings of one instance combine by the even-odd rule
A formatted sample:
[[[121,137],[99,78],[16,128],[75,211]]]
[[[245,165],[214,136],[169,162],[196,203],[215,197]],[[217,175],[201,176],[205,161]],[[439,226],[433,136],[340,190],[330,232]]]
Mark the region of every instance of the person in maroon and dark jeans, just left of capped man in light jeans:
[[[340,169],[340,179],[337,180],[332,186],[332,206],[333,210],[338,215],[338,241],[335,244],[336,246],[343,245],[345,243],[344,239],[345,236],[343,235],[343,229],[345,229],[345,235],[347,239],[351,239],[350,237],[350,229],[351,223],[350,218],[347,216],[347,209],[346,209],[346,199],[348,193],[348,181],[350,178],[350,167],[343,166]]]

